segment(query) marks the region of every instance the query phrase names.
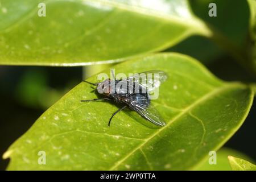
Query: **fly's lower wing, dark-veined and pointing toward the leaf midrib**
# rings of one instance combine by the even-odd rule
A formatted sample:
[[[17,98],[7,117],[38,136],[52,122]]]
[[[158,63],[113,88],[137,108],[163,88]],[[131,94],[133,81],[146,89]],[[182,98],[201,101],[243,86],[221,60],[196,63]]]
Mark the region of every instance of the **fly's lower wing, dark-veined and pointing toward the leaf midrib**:
[[[131,98],[136,97],[136,98]],[[150,104],[150,100],[143,95],[130,96],[130,102],[126,103],[131,109],[141,114],[142,117],[158,126],[166,126],[163,118],[160,116],[154,106]]]

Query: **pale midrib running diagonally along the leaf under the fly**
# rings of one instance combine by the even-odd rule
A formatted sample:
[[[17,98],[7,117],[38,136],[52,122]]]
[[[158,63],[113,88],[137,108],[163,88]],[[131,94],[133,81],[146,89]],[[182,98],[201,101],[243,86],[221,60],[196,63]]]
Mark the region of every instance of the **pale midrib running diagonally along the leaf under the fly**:
[[[144,142],[142,142],[138,147],[134,148],[134,150],[132,150],[129,154],[127,154],[125,156],[125,158],[119,160],[117,163],[115,163],[115,165],[113,167],[111,167],[109,170],[112,171],[115,168],[117,168],[120,164],[122,164],[122,162],[124,162],[126,159],[128,159],[131,155],[133,155],[137,150],[140,150],[147,142],[149,142],[152,138],[154,138],[156,135],[158,135],[159,133],[161,133],[161,131],[163,131],[164,129],[167,129],[168,126],[170,126],[173,122],[175,122],[177,119],[179,119],[180,117],[182,117],[184,114],[187,114],[190,110],[192,110],[194,107],[196,107],[197,105],[199,105],[201,102],[204,102],[205,100],[207,100],[208,98],[223,92],[224,90],[233,88],[233,87],[240,87],[240,88],[245,88],[245,85],[242,85],[240,83],[234,82],[232,84],[225,84],[224,86],[218,87],[217,89],[214,89],[212,92],[209,92],[208,94],[205,94],[203,97],[199,98],[197,101],[195,101],[193,104],[191,104],[190,106],[188,106],[187,108],[185,108],[183,111],[181,111],[179,114],[176,115],[176,117],[174,117],[172,119],[172,121],[168,122],[166,126],[162,127],[161,129],[157,130],[154,134],[152,134],[150,137],[148,137],[148,139],[145,139]]]

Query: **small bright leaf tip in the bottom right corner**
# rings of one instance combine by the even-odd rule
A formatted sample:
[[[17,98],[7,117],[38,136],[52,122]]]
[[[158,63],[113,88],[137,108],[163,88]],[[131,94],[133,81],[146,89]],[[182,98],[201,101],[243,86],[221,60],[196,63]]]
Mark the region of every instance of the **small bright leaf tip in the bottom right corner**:
[[[233,171],[256,171],[256,166],[246,160],[229,156],[229,163]]]

